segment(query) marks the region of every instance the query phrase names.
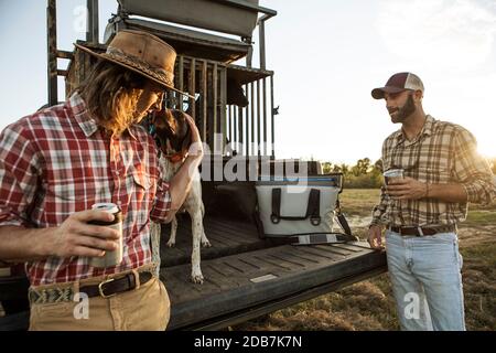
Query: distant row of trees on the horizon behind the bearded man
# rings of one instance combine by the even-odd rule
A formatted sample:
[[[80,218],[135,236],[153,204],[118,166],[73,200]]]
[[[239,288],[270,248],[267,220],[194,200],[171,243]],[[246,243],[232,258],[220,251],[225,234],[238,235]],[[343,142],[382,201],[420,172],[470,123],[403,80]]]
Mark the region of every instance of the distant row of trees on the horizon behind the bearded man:
[[[489,159],[488,162],[496,175],[496,158]],[[375,163],[369,158],[359,159],[355,165],[323,162],[322,171],[324,173],[343,173],[344,188],[346,189],[378,189],[384,183],[382,161],[380,159]]]

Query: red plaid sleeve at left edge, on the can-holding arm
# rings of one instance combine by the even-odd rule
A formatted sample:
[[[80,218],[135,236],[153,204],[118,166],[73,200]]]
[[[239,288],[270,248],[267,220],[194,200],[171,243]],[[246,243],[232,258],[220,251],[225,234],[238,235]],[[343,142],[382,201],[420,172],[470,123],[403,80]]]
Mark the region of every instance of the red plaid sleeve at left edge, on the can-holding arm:
[[[30,139],[19,125],[0,135],[0,225],[28,226],[36,195],[40,165]]]

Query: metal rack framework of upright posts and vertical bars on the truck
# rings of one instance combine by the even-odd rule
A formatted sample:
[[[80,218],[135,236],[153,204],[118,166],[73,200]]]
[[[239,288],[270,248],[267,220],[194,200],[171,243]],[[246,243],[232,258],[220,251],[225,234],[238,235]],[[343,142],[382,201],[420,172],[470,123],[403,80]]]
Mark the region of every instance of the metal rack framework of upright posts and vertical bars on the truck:
[[[249,9],[263,13],[258,19],[257,25],[260,31],[260,69],[266,72],[266,50],[265,50],[265,22],[274,17],[277,11],[254,6],[242,0],[209,0],[216,2],[228,2],[231,6]],[[88,44],[98,45],[99,28],[98,28],[98,0],[87,0],[88,9],[88,29],[86,32],[86,42]],[[74,54],[57,50],[56,41],[56,0],[47,0],[46,9],[47,19],[47,90],[48,105],[58,103],[57,97],[57,77],[67,76],[68,72],[57,68],[57,58],[73,60]],[[249,56],[249,55],[248,55]],[[250,67],[250,57],[247,57],[247,67]],[[274,159],[274,110],[273,110],[273,73],[266,72],[270,76],[270,92],[267,92],[267,76],[263,78],[252,78],[245,85],[245,93],[250,101],[250,105],[242,109],[236,106],[227,105],[227,72],[225,65],[219,62],[202,60],[200,57],[186,57],[179,55],[179,89],[183,89],[187,84],[191,94],[196,93],[196,75],[200,75],[201,87],[198,92],[205,95],[204,104],[201,111],[195,111],[194,99],[190,100],[192,107],[192,115],[202,115],[203,120],[203,140],[211,146],[212,151],[224,151],[223,141],[214,141],[214,133],[222,132],[225,138],[229,139],[233,146],[245,143],[242,151],[237,151],[245,156],[271,157]],[[188,77],[184,77],[184,71],[188,72]],[[257,72],[257,69],[252,69]],[[261,81],[261,82],[260,82]],[[208,93],[208,94],[207,94]],[[181,97],[168,97],[168,105],[177,109],[183,109]],[[208,111],[207,100],[211,105]],[[268,101],[270,100],[270,105]],[[212,109],[212,107],[216,107]],[[268,111],[270,107],[270,115],[268,121]],[[244,114],[244,110],[246,111]],[[233,113],[231,113],[233,111]],[[207,116],[213,113],[212,117]],[[244,119],[246,119],[244,121]],[[270,129],[270,142],[268,141]],[[207,136],[207,131],[209,131]],[[268,148],[268,143],[271,148]],[[217,146],[218,145],[218,146]],[[263,147],[262,147],[263,145]],[[255,148],[252,146],[256,146]],[[250,148],[251,147],[251,148]]]

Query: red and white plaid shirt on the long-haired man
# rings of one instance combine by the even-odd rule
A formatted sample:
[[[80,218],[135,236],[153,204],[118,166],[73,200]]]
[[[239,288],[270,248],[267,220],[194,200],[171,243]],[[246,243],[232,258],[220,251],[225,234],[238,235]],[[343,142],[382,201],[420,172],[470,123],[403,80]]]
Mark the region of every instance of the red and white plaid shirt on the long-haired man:
[[[66,282],[132,269],[151,261],[150,220],[171,206],[153,139],[139,126],[120,138],[100,132],[74,94],[64,105],[24,117],[0,135],[0,225],[61,225],[94,203],[114,202],[123,214],[123,260],[97,269],[87,257],[26,264],[31,285]]]

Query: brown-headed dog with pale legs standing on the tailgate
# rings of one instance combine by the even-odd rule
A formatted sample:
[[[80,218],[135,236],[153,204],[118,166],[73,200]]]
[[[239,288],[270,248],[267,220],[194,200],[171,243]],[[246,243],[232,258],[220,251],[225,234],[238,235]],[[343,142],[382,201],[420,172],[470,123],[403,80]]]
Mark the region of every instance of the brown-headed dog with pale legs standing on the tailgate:
[[[152,124],[155,130],[155,140],[161,151],[160,169],[163,178],[171,180],[186,159],[192,143],[191,128],[186,121],[186,114],[180,110],[164,109],[154,115]],[[212,245],[205,235],[203,226],[205,207],[202,201],[202,183],[197,169],[194,170],[192,178],[192,188],[179,212],[186,211],[191,216],[191,228],[193,233],[191,279],[195,284],[203,284],[204,277],[200,266],[200,245],[203,247],[211,247]],[[171,222],[171,236],[166,243],[168,247],[175,246],[176,233],[177,218],[174,216]]]

